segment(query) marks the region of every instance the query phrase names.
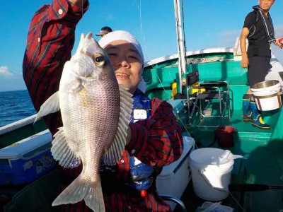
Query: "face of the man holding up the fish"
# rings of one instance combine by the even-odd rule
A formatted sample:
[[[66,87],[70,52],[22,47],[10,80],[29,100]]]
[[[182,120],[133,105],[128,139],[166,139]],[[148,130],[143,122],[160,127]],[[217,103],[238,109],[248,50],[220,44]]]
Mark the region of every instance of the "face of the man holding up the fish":
[[[139,86],[143,70],[141,55],[125,40],[110,42],[105,47],[119,84],[129,88],[130,93]]]

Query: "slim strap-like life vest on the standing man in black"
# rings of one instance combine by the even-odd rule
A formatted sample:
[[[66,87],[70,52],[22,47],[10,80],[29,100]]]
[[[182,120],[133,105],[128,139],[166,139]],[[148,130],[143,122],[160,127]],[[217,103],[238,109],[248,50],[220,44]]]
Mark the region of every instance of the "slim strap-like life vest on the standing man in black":
[[[272,23],[272,18],[271,16],[269,16],[269,18],[267,18],[267,16],[265,15],[265,13],[262,11],[262,8],[260,8],[260,6],[253,6],[253,10],[255,11],[255,13],[257,14],[257,18],[255,20],[255,25],[253,25],[249,30],[250,33],[248,34],[248,39],[250,40],[258,40],[258,39],[262,39],[264,37],[259,37],[258,36],[258,32],[259,32],[259,28],[258,28],[258,20],[259,18],[262,19],[262,23],[263,23],[263,27],[265,28],[265,34],[267,37],[268,42],[272,43],[275,42],[275,31],[273,28],[273,23]]]

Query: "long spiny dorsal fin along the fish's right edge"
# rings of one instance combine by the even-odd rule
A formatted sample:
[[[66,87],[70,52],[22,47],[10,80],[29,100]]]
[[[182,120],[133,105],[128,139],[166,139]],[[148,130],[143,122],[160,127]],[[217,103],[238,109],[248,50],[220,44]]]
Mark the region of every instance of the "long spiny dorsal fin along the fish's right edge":
[[[117,133],[108,151],[103,155],[103,163],[106,165],[115,165],[122,156],[125,149],[127,129],[129,128],[129,119],[132,112],[132,94],[125,86],[119,85],[120,90],[120,117],[117,127]]]

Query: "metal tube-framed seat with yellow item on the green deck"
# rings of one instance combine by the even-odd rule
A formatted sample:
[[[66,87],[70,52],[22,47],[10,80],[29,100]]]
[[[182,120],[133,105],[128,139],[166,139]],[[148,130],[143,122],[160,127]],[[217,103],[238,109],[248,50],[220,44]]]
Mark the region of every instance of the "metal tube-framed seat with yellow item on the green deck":
[[[200,123],[204,117],[219,117],[219,125],[212,127],[223,125],[224,117],[231,117],[229,83],[227,81],[200,81],[198,71],[192,71],[186,75],[186,83],[187,105],[192,108],[192,110],[188,110],[190,125],[196,112],[200,114]],[[215,108],[213,102],[217,101],[218,108]],[[208,112],[204,112],[208,108]],[[218,112],[212,112],[212,110],[218,110]],[[211,126],[200,123],[197,126]]]

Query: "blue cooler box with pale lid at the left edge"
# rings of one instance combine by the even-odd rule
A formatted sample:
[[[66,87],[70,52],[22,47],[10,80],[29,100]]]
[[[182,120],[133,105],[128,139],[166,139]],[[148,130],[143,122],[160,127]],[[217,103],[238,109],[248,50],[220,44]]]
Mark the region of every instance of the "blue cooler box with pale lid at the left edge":
[[[0,185],[33,182],[56,163],[50,152],[52,135],[47,129],[0,150]]]

